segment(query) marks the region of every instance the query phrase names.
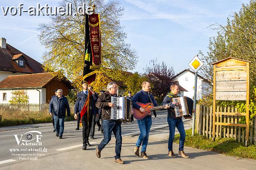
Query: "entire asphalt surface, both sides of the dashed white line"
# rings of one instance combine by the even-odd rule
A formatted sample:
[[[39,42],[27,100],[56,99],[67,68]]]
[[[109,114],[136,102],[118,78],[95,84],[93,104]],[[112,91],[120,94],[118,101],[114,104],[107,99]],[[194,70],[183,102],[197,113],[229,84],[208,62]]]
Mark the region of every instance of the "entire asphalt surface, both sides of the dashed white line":
[[[136,136],[138,135],[137,122],[134,121],[132,123],[122,124],[123,140],[121,157],[122,160],[125,161],[123,165],[114,162],[114,137],[102,150],[101,158],[97,158],[95,148],[103,137],[98,131],[96,131],[96,139],[90,140],[92,146],[88,147],[87,150],[82,150],[82,130],[74,130],[76,128],[76,122],[74,121],[65,122],[63,139],[55,137],[50,123],[0,128],[0,169],[250,170],[256,167],[256,160],[224,156],[207,150],[199,150],[190,147],[184,147],[185,153],[190,156],[189,159],[181,157],[170,158],[167,156],[169,131],[168,128],[163,128],[167,127],[166,113],[158,113],[158,117],[152,120],[153,125],[147,147],[147,154],[151,159],[148,160],[134,156],[134,145],[138,139],[138,136]],[[185,129],[190,129],[192,121],[185,122],[184,126]],[[26,139],[24,134],[28,131],[39,131],[42,133],[42,136],[40,136],[41,139],[38,139],[42,145],[18,145],[15,135],[17,136],[18,142],[20,141],[20,143],[22,143],[22,139]],[[23,135],[22,138],[20,138],[21,135]],[[28,137],[31,137],[31,135],[28,135]],[[33,137],[35,139],[30,143],[36,142],[36,133],[34,133]],[[28,150],[38,148],[39,150]],[[15,152],[12,150],[11,152],[10,149],[19,150],[15,150]],[[178,144],[173,144],[173,150],[175,154],[178,154]]]

